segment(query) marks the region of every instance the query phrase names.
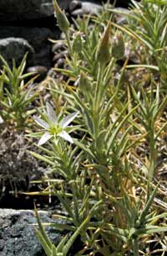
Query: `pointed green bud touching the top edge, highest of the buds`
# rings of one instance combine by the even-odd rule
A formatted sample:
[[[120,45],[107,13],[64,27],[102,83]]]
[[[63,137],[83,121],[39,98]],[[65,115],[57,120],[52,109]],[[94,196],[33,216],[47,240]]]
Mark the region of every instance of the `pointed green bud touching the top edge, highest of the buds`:
[[[57,0],[53,0],[53,8],[56,13],[56,18],[58,21],[58,27],[63,32],[67,32],[69,29],[69,22],[68,18],[66,17],[65,13],[59,8]]]

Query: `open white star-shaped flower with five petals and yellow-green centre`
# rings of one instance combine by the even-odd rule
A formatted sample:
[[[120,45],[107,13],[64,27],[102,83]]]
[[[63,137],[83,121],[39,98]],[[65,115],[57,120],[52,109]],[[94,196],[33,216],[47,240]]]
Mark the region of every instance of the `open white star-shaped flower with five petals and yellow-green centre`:
[[[46,108],[48,117],[47,121],[44,121],[43,119],[36,116],[33,117],[34,121],[44,129],[43,136],[39,139],[38,145],[45,144],[50,138],[57,139],[58,136],[73,144],[73,138],[71,138],[71,136],[66,132],[65,129],[68,127],[68,124],[77,117],[78,112],[73,112],[72,114],[68,115],[60,122],[58,122],[56,113],[54,112],[53,107],[48,102],[46,103]]]

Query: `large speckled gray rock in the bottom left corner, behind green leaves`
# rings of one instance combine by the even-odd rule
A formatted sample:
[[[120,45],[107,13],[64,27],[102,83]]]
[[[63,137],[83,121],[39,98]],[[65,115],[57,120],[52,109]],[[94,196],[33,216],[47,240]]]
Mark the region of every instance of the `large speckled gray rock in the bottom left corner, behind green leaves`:
[[[53,222],[48,212],[39,211],[42,222]],[[33,229],[37,223],[30,210],[0,209],[0,255],[1,256],[45,256]],[[48,237],[58,244],[63,232],[46,227]]]

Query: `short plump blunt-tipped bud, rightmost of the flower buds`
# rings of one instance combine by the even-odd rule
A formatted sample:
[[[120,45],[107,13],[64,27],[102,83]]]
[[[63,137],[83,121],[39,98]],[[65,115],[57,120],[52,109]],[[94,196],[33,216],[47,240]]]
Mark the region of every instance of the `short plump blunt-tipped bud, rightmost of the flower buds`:
[[[123,34],[120,31],[117,31],[112,42],[112,56],[115,59],[120,60],[124,57],[124,51]]]

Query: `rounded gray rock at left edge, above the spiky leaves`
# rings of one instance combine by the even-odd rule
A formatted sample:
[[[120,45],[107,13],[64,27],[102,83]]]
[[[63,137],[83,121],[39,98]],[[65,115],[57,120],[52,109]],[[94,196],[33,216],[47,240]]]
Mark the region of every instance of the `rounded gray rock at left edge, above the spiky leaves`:
[[[11,65],[13,59],[19,65],[26,52],[29,52],[30,55],[34,53],[33,47],[26,39],[0,39],[0,55],[3,55],[3,58],[8,61],[9,65]]]

